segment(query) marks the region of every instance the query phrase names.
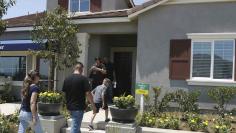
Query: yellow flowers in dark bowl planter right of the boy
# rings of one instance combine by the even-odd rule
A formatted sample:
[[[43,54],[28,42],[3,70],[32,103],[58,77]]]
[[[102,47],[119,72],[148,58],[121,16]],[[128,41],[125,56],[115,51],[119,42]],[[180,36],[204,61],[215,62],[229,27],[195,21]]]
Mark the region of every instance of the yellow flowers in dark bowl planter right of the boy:
[[[114,106],[110,107],[112,120],[121,123],[132,123],[138,113],[135,107],[135,99],[133,96],[120,96],[113,98]]]

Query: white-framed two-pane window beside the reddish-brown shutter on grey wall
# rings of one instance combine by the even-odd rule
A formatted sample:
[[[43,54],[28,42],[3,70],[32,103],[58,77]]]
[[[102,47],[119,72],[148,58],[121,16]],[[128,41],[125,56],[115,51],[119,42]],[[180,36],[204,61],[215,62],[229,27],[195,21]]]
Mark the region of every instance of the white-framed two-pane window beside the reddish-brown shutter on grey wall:
[[[192,41],[192,78],[233,80],[234,40]]]

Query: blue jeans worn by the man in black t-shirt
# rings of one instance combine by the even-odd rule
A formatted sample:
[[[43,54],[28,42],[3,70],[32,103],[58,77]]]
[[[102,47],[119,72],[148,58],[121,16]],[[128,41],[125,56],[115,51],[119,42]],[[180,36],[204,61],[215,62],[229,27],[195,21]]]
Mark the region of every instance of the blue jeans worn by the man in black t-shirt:
[[[71,133],[81,133],[80,126],[83,120],[84,111],[77,110],[77,111],[70,111],[71,118],[72,118],[72,125],[71,125]]]

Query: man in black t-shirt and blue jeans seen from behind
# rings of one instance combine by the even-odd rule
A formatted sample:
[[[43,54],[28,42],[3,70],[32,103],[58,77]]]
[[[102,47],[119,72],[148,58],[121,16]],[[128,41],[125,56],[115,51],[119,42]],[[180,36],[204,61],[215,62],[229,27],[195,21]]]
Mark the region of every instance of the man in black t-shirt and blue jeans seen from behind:
[[[66,106],[72,118],[71,133],[81,133],[80,126],[86,109],[86,97],[92,105],[93,113],[96,113],[89,80],[82,73],[83,64],[78,63],[74,68],[74,73],[65,79],[62,88],[66,95]]]

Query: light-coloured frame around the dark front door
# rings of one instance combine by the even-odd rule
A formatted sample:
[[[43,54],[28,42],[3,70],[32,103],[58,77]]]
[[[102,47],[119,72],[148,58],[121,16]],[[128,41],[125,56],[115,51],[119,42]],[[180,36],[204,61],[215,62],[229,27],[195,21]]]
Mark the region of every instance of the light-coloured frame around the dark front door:
[[[135,81],[136,81],[136,58],[137,58],[137,47],[112,47],[110,53],[110,59],[114,63],[115,52],[131,52],[132,53],[132,83],[131,83],[131,94],[135,95]]]

